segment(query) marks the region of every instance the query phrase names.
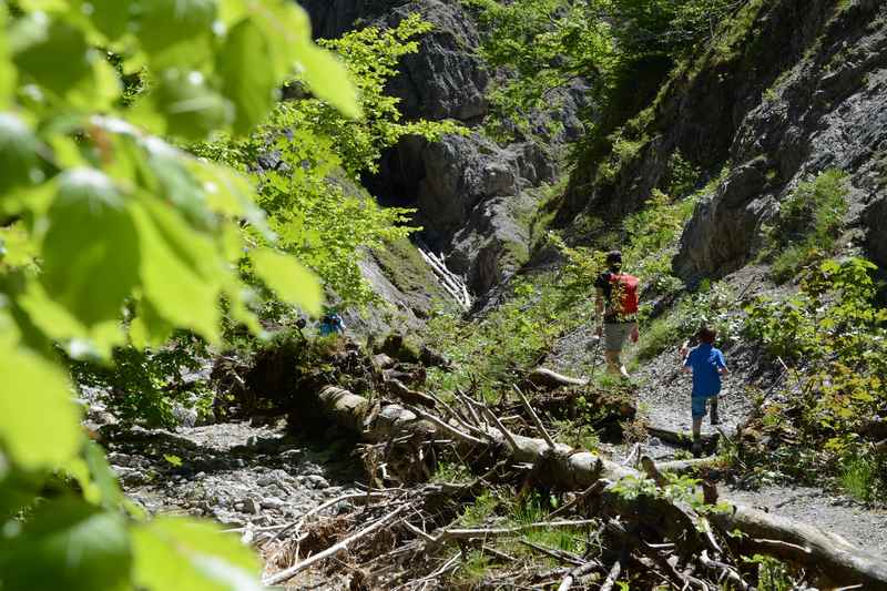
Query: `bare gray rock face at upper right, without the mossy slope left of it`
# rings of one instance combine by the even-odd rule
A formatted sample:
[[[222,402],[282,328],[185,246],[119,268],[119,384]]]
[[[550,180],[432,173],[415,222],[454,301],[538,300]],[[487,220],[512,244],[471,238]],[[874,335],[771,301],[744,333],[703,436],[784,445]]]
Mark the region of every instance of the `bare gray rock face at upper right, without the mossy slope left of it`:
[[[792,2],[777,3],[771,18],[779,14],[778,4],[785,11]],[[814,14],[822,10],[822,2],[810,4]],[[870,253],[887,261],[884,231],[876,230],[886,227],[884,206],[878,202],[859,215],[885,194],[873,175],[887,147],[887,30],[869,26],[884,18],[883,3],[857,1],[807,32],[812,57],[786,70],[784,82],[743,119],[731,147],[740,165],[686,228],[675,259],[684,277],[725,274],[744,264],[778,203],[828,169],[849,173],[850,222],[868,226]]]

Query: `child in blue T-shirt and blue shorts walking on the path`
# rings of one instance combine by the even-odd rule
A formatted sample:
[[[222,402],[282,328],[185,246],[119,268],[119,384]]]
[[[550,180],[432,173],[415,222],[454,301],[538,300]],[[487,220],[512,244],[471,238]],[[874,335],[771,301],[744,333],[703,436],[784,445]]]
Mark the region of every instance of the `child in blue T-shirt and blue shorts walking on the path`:
[[[697,347],[690,349],[690,342],[681,346],[681,358],[684,371],[693,373],[693,393],[691,394],[691,414],[693,415],[693,456],[702,452],[700,431],[702,431],[702,417],[705,416],[705,406],[710,403],[712,425],[717,425],[717,395],[721,394],[721,376],[730,373],[721,349],[714,347],[717,332],[703,326],[696,334],[700,339]]]

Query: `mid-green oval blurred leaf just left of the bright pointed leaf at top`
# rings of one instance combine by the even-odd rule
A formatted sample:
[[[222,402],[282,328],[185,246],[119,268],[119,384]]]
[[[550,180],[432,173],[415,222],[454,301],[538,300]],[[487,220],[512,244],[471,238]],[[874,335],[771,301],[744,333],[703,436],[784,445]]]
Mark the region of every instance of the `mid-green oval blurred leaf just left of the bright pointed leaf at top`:
[[[234,132],[245,134],[262,123],[277,99],[277,78],[264,32],[253,20],[241,21],[216,58],[222,92],[236,109]]]

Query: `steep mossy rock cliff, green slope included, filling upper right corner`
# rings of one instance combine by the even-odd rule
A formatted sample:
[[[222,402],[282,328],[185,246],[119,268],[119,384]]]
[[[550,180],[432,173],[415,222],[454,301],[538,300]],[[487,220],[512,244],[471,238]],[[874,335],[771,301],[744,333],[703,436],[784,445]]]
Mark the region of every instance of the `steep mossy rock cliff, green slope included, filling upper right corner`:
[[[685,279],[723,276],[751,259],[798,183],[839,169],[850,186],[847,222],[887,265],[886,20],[878,0],[751,0],[620,131],[620,156],[575,171],[557,222],[638,208],[665,186],[677,153],[703,171],[700,184],[726,167],[675,258]]]

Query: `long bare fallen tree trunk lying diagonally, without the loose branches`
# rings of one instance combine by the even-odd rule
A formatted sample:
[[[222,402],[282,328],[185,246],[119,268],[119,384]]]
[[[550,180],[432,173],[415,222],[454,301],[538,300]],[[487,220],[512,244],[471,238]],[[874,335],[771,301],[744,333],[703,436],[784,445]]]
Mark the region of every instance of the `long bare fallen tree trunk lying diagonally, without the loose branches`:
[[[486,424],[476,425],[476,429],[486,434],[480,439],[460,429],[456,421],[446,422],[437,417],[429,420],[430,415],[424,411],[389,405],[370,412],[366,399],[334,387],[324,388],[318,398],[329,419],[371,442],[390,441],[404,435],[428,436],[429,439],[446,436],[473,448],[490,439],[509,452],[510,461],[540,466],[542,469],[538,477],[544,478],[552,488],[583,490],[606,479],[611,483],[600,495],[605,513],[639,516],[644,527],[662,531],[672,541],[681,540],[684,551],[720,551],[716,544],[712,544],[711,536],[702,534],[696,528],[700,516],[681,503],[659,496],[626,498],[619,495],[615,487],[620,481],[642,479],[643,475],[590,451],[577,452],[563,444],[551,448],[543,439],[509,432],[501,422],[497,425],[498,429]],[[488,412],[488,418],[493,422],[498,419],[491,412]],[[830,581],[887,590],[887,564],[837,536],[727,499],[721,499],[720,507],[723,511],[713,511],[707,519],[723,534],[742,532],[741,537],[730,538],[731,546],[742,553],[776,556],[808,571],[819,572]],[[650,558],[655,559],[652,554]]]

